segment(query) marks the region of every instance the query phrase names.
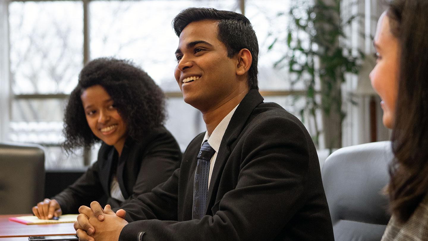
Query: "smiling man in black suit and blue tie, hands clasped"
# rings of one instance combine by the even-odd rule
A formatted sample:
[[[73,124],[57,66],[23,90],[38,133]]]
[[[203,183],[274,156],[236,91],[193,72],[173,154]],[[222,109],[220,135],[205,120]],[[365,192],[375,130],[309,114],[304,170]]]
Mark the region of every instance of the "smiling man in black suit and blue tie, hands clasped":
[[[185,9],[175,79],[207,131],[163,184],[116,214],[82,206],[80,240],[333,240],[320,167],[303,124],[257,87],[258,43],[244,15]],[[125,215],[126,213],[126,215]]]

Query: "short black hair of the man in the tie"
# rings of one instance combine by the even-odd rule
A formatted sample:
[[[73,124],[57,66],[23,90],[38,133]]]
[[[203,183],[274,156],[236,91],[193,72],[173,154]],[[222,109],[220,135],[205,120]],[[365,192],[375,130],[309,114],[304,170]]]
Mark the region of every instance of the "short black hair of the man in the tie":
[[[218,21],[218,39],[226,45],[229,58],[238,54],[243,48],[250,50],[253,62],[248,70],[248,87],[259,89],[257,84],[259,43],[250,20],[237,12],[213,8],[187,8],[175,16],[172,20],[172,27],[174,27],[175,34],[180,36],[181,31],[188,24],[205,19]]]

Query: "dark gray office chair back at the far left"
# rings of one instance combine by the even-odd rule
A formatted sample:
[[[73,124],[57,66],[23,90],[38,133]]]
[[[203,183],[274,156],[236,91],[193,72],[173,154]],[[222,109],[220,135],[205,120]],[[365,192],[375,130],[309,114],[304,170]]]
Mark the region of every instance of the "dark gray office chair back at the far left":
[[[30,214],[43,200],[44,187],[41,146],[0,143],[0,214]]]

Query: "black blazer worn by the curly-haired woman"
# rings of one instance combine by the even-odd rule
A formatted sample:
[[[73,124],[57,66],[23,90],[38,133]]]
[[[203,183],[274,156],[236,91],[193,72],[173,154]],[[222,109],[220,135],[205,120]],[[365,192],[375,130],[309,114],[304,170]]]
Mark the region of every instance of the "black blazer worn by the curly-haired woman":
[[[181,161],[180,148],[165,127],[154,128],[138,141],[128,137],[122,155],[117,155],[113,146],[103,143],[98,160],[74,184],[53,197],[63,214],[77,214],[81,205],[89,206],[99,199],[107,200],[113,208],[119,207],[166,181]],[[124,202],[110,197],[115,168]]]

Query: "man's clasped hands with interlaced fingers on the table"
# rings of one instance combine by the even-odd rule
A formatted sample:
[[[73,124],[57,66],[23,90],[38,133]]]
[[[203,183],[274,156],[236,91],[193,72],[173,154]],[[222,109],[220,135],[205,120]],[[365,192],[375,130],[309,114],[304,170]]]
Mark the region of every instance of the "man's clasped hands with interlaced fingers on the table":
[[[79,213],[74,229],[80,241],[117,241],[123,227],[128,224],[124,219],[125,210],[119,209],[115,213],[110,205],[103,209],[96,201],[91,202],[90,208],[81,206]]]

